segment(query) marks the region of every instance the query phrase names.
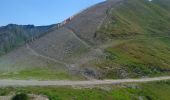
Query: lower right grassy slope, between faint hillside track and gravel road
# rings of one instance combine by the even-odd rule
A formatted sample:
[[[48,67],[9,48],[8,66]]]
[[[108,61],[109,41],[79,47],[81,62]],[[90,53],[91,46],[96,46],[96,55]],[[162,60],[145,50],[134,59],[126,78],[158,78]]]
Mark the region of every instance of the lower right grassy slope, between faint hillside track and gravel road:
[[[120,69],[128,73],[127,77],[169,74],[169,50],[168,44],[159,39],[131,40],[107,48],[107,58],[97,66],[107,70],[105,78],[123,78]]]

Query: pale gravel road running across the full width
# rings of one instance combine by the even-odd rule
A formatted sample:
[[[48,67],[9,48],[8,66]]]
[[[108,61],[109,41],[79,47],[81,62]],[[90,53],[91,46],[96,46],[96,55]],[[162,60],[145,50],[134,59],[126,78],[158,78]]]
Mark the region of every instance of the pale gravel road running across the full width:
[[[117,80],[87,80],[87,81],[38,81],[38,80],[0,80],[0,87],[15,87],[15,86],[89,86],[89,85],[114,85],[121,83],[142,83],[170,80],[170,76],[141,78],[141,79],[117,79]]]

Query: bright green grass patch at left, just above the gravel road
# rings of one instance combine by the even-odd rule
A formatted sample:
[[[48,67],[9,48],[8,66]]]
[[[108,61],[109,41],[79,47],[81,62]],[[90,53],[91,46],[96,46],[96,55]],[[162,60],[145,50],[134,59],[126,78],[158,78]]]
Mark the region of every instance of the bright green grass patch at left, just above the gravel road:
[[[82,77],[47,68],[26,69],[16,72],[2,72],[0,79],[38,79],[38,80],[81,80]]]

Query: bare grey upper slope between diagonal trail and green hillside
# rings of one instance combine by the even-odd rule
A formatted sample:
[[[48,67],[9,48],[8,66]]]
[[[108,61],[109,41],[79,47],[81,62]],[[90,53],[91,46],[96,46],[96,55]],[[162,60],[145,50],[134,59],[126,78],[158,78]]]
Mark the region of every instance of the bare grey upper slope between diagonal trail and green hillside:
[[[107,11],[119,4],[122,0],[108,0],[94,5],[73,16],[65,27],[72,29],[77,36],[90,44],[95,44],[95,33],[107,17]]]

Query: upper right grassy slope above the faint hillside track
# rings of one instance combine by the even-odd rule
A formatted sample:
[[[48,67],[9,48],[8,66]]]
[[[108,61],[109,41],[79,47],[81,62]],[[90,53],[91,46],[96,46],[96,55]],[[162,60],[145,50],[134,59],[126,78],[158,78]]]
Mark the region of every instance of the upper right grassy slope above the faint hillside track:
[[[124,1],[109,11],[110,21],[101,27],[99,33],[105,34],[109,38],[169,34],[170,9],[164,9],[155,2],[147,0]]]

